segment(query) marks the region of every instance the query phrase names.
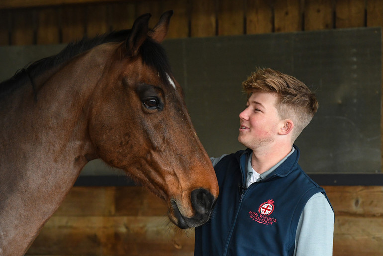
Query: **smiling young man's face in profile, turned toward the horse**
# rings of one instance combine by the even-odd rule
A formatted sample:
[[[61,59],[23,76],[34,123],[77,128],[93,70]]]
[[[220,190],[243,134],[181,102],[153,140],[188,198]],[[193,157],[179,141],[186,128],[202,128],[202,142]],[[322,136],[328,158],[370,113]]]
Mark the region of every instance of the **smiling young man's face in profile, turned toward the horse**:
[[[281,119],[275,107],[277,96],[272,93],[254,92],[246,103],[246,109],[239,114],[238,141],[256,150],[269,146],[278,135]]]

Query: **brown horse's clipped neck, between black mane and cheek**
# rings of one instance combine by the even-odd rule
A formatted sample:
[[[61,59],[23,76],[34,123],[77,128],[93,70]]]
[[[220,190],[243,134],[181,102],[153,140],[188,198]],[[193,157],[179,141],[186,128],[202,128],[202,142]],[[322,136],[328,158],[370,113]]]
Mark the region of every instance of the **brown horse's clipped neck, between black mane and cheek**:
[[[0,110],[0,255],[25,253],[94,154],[87,106],[105,61],[90,51]]]

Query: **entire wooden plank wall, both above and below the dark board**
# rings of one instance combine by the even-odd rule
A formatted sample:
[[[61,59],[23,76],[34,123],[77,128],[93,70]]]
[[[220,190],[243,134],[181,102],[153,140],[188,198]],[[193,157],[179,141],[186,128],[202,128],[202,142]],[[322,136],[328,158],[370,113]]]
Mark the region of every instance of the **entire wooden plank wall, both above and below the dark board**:
[[[168,38],[383,26],[382,0],[1,0],[0,45],[67,43],[146,12],[153,26],[168,9]],[[334,255],[383,255],[383,187],[325,189]],[[140,187],[74,187],[28,255],[193,255],[193,231],[175,229],[166,211]]]

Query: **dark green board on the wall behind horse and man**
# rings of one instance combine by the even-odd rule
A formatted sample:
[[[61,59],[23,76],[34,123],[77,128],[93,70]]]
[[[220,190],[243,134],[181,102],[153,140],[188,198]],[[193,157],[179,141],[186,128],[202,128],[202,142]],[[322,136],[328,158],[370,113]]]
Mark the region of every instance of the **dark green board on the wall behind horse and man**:
[[[380,172],[380,28],[166,40],[191,119],[208,154],[235,152],[241,82],[255,67],[293,75],[316,94],[318,113],[296,141],[308,173]],[[0,47],[0,80],[63,45]],[[21,62],[22,61],[22,62]],[[187,146],[187,145],[186,145]],[[110,174],[99,161],[83,174]]]

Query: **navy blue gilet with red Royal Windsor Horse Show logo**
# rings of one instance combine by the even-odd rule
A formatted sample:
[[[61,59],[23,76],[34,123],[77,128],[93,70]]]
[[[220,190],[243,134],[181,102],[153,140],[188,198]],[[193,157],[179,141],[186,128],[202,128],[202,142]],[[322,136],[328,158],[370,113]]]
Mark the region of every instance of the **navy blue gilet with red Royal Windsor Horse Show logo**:
[[[211,219],[195,229],[195,256],[292,256],[304,206],[318,192],[326,196],[300,168],[297,147],[265,179],[245,189],[251,153],[227,155],[214,167],[219,196]]]

